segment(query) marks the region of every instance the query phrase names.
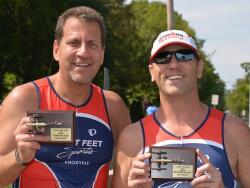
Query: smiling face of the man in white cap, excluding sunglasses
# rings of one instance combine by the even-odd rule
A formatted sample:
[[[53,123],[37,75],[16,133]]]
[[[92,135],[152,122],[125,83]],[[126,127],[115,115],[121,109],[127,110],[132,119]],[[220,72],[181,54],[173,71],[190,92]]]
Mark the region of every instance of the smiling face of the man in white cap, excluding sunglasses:
[[[184,46],[172,45],[163,48],[164,51],[190,50]],[[159,53],[160,53],[159,52]],[[202,76],[203,65],[197,59],[180,62],[172,54],[168,64],[149,65],[152,81],[155,81],[160,92],[167,95],[192,94],[197,91],[197,79]]]

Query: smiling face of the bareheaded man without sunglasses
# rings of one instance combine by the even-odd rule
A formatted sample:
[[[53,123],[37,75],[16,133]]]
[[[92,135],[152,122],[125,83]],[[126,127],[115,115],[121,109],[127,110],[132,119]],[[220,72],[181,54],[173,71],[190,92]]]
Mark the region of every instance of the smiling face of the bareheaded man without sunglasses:
[[[60,43],[54,42],[53,55],[64,79],[77,84],[92,82],[104,60],[98,23],[69,18]]]

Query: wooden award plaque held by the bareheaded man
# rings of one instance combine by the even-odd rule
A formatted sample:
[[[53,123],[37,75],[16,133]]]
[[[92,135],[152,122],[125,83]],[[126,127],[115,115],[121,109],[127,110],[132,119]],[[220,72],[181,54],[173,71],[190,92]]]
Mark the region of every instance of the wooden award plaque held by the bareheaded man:
[[[30,134],[44,134],[50,137],[49,143],[73,143],[75,138],[74,111],[30,111]]]

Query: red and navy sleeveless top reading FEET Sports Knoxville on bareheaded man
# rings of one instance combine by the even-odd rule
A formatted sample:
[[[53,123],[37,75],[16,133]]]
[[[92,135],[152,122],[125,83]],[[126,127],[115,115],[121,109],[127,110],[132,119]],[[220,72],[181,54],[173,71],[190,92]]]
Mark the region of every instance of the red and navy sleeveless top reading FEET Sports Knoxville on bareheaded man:
[[[40,110],[76,112],[76,140],[72,145],[41,144],[13,187],[106,188],[114,143],[103,91],[92,84],[87,102],[74,106],[56,93],[49,78],[33,83]]]

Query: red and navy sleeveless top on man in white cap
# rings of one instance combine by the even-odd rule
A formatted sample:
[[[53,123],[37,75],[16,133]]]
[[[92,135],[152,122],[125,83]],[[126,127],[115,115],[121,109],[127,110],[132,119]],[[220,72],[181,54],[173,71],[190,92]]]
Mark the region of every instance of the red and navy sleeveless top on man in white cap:
[[[144,137],[143,153],[148,152],[149,146],[169,146],[199,148],[222,173],[225,187],[237,186],[229,165],[224,145],[224,119],[225,114],[209,108],[202,124],[190,135],[178,137],[166,130],[157,120],[155,113],[146,116],[140,121]],[[200,159],[197,167],[201,166]],[[161,187],[191,187],[188,182],[155,180],[154,188]]]

